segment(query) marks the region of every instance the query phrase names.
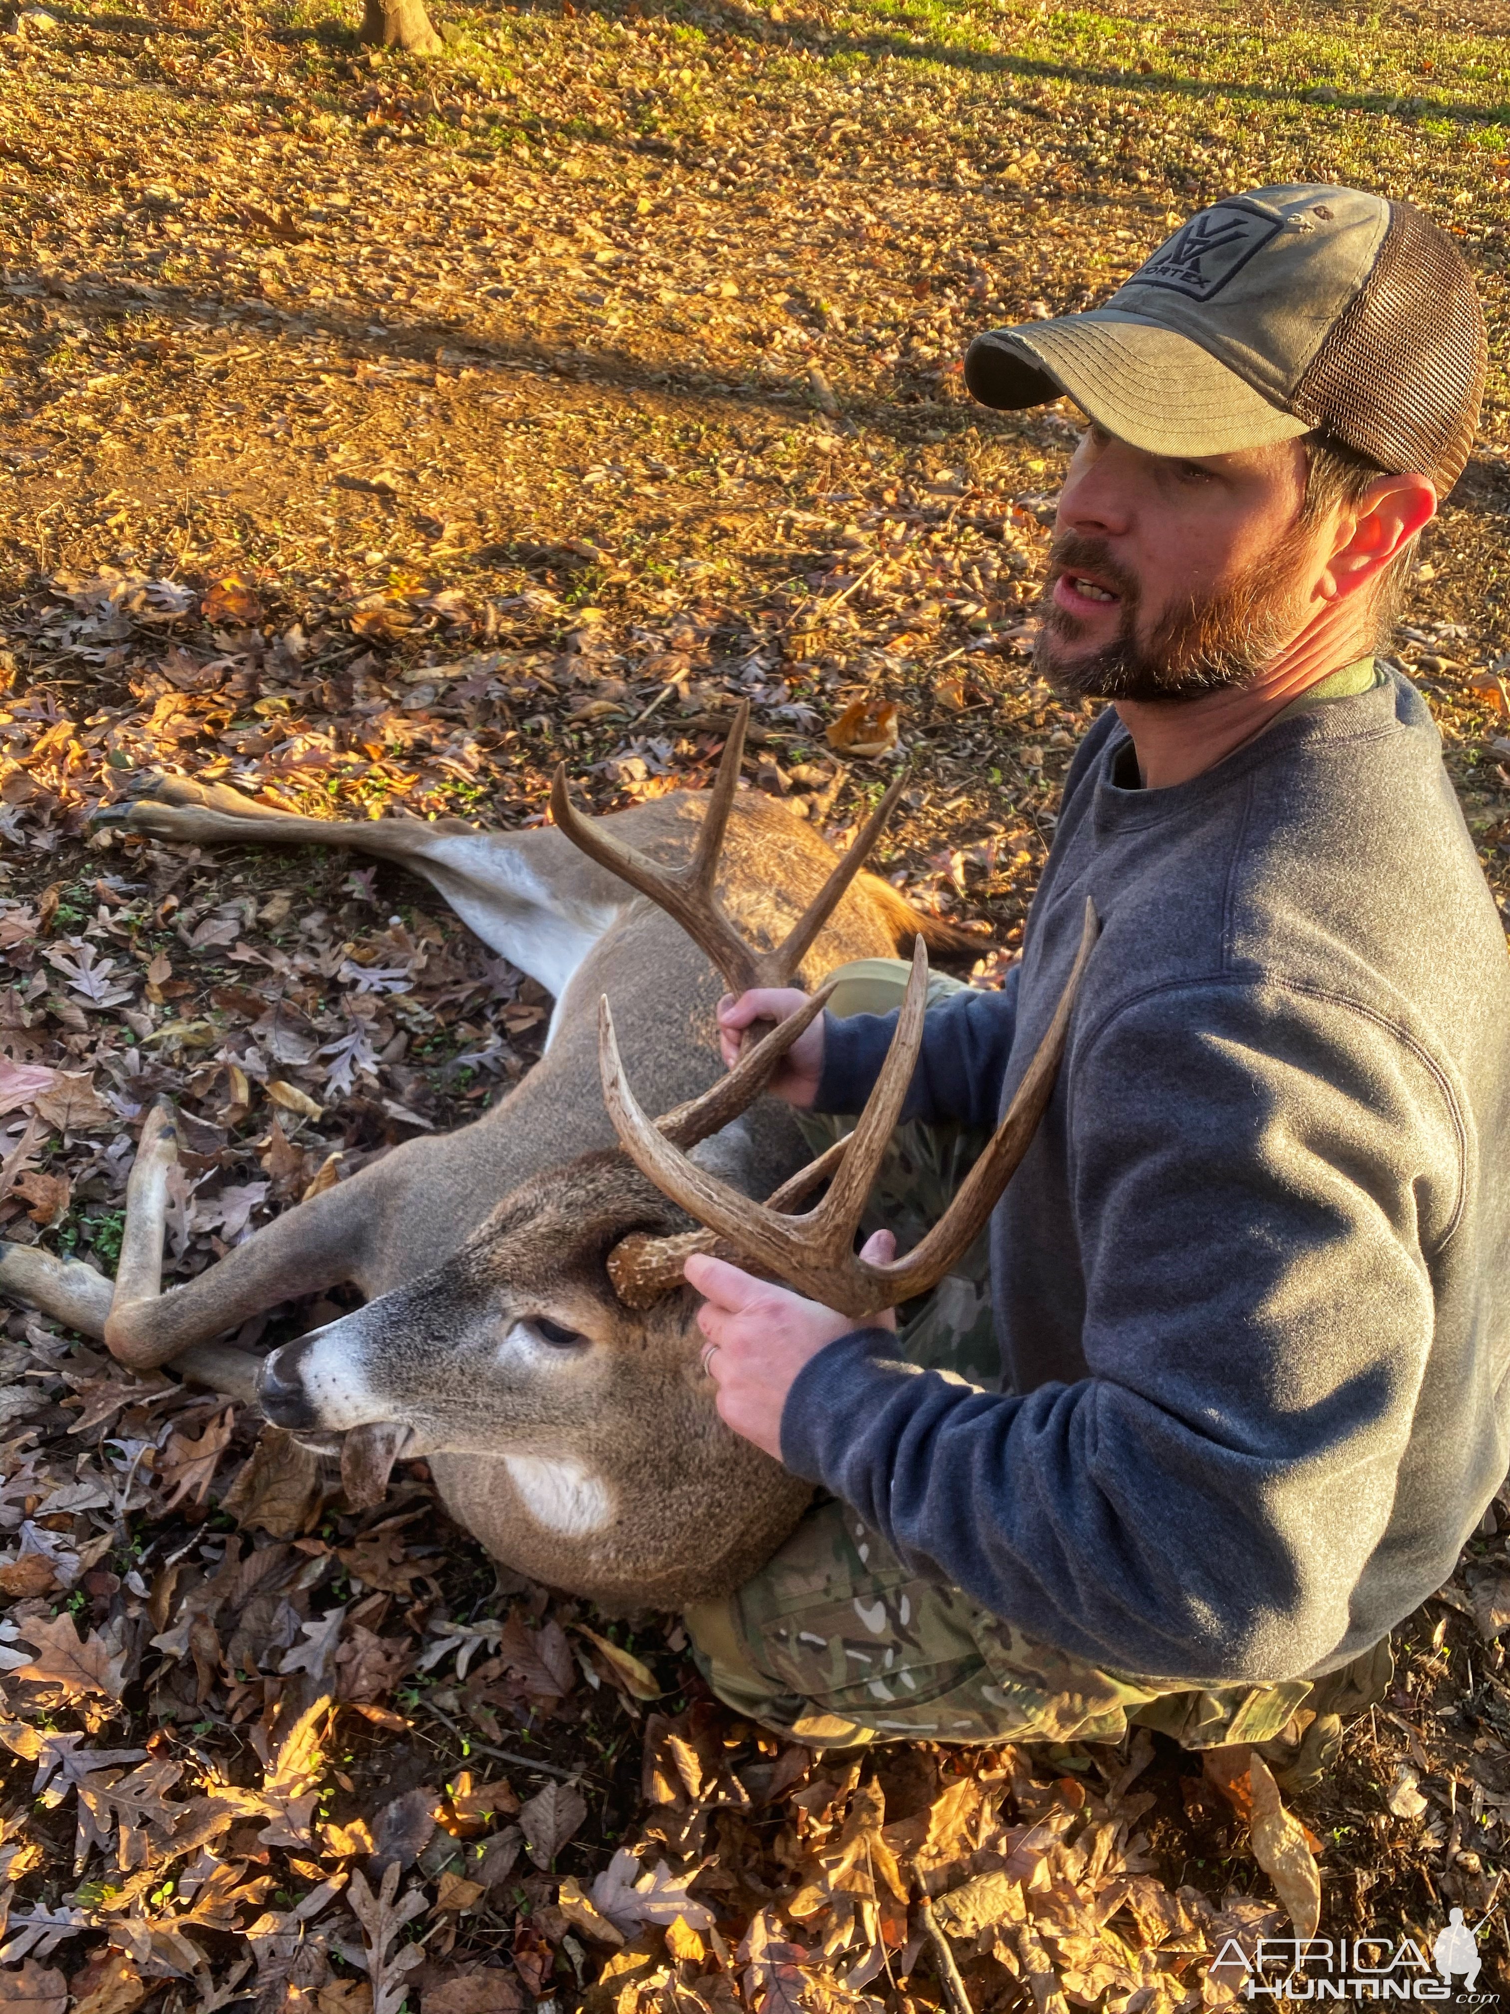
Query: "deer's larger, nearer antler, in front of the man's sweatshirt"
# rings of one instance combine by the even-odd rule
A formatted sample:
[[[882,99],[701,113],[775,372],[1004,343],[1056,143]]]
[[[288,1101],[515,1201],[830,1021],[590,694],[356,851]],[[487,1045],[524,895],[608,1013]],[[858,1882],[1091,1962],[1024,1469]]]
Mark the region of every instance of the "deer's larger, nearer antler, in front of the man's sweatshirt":
[[[926,1233],[922,1243],[900,1259],[892,1259],[886,1265],[860,1259],[854,1251],[854,1235],[882,1154],[886,1152],[886,1142],[902,1110],[922,1043],[922,1015],[928,993],[928,953],[922,939],[918,939],[912,955],[912,977],[902,999],[892,1047],[886,1053],[880,1077],[866,1102],[866,1110],[860,1114],[856,1130],[848,1140],[840,1142],[844,1150],[842,1158],[840,1148],[829,1148],[819,1162],[803,1168],[801,1174],[783,1184],[769,1202],[755,1202],[705,1168],[699,1168],[640,1110],[624,1080],[614,1017],[608,999],[604,999],[598,1007],[598,1061],[604,1100],[620,1144],[662,1194],[670,1196],[672,1202],[681,1204],[681,1208],[707,1227],[705,1237],[713,1233],[717,1239],[727,1241],[745,1261],[753,1261],[759,1271],[789,1281],[801,1293],[811,1295],[825,1307],[838,1307],[854,1321],[868,1321],[884,1307],[896,1307],[900,1301],[910,1301],[914,1295],[936,1287],[960,1255],[968,1251],[987,1216],[997,1206],[1017,1164],[1027,1154],[1049,1104],[1055,1075],[1059,1073],[1059,1059],[1065,1051],[1079,981],[1099,928],[1095,908],[1087,900],[1085,928],[1075,965],[1007,1114],[950,1206]],[[765,1039],[775,1041],[785,1033],[785,1027],[787,1023],[781,1023]],[[817,1170],[827,1172],[836,1160],[838,1172],[817,1208],[801,1216],[781,1214],[781,1202],[789,1196],[795,1200],[803,1184],[817,1180]],[[693,1239],[697,1237],[693,1233]],[[668,1247],[672,1245],[678,1247],[678,1261],[685,1259],[689,1251],[687,1237],[642,1241],[632,1255],[624,1253],[622,1271],[626,1273],[626,1285],[640,1287],[640,1281],[648,1285],[652,1277],[664,1279],[666,1267],[656,1263],[656,1247],[664,1247],[664,1261],[670,1261]],[[664,1285],[670,1287],[672,1283],[666,1281]],[[640,1287],[640,1291],[644,1289]]]

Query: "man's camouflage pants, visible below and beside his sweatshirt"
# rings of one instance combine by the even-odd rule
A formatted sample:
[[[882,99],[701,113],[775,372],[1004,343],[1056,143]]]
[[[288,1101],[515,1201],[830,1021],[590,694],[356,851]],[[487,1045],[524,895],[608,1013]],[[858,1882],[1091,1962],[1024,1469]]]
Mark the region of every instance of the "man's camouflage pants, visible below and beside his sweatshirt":
[[[834,1013],[888,1013],[908,967],[840,967]],[[934,977],[930,1005],[958,981]],[[815,1150],[848,1122],[805,1116]],[[900,1126],[870,1196],[866,1231],[888,1225],[906,1251],[948,1204],[985,1136]],[[902,1353],[974,1386],[999,1388],[985,1233],[918,1303],[898,1309]],[[1129,1722],[1186,1748],[1270,1742],[1297,1712],[1383,1696],[1373,1666],[1311,1686],[1198,1686],[1101,1672],[1039,1643],[954,1587],[910,1573],[848,1504],[819,1498],[743,1587],[687,1611],[697,1664],[735,1712],[813,1746],[872,1740],[1115,1742]],[[1387,1643],[1381,1645],[1387,1672]],[[1351,1692],[1359,1700],[1351,1700]],[[1377,1688],[1377,1690],[1375,1690]]]

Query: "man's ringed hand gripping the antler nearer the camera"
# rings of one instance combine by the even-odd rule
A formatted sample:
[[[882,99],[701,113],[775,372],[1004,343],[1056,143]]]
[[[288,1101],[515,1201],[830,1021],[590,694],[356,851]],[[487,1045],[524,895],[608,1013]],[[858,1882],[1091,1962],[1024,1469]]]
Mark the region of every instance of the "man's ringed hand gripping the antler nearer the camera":
[[[755,995],[747,993],[745,999]],[[860,1257],[884,1265],[894,1253],[892,1233],[878,1231]],[[719,1412],[737,1434],[765,1448],[777,1462],[781,1408],[803,1363],[856,1327],[896,1327],[890,1309],[870,1323],[856,1323],[817,1301],[803,1301],[789,1287],[773,1287],[771,1281],[741,1273],[737,1265],[709,1259],[707,1253],[693,1253],[685,1271],[689,1285],[705,1295],[697,1325],[707,1335],[703,1368],[719,1388]]]

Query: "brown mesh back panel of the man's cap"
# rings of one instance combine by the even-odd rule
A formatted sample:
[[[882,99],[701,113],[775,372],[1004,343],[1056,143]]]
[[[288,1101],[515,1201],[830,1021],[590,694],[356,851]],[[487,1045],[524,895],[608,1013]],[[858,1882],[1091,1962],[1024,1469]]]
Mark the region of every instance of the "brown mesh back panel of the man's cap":
[[[1446,495],[1474,445],[1486,365],[1484,310],[1462,252],[1411,203],[1391,203],[1373,270],[1293,409],[1381,469],[1419,469]]]

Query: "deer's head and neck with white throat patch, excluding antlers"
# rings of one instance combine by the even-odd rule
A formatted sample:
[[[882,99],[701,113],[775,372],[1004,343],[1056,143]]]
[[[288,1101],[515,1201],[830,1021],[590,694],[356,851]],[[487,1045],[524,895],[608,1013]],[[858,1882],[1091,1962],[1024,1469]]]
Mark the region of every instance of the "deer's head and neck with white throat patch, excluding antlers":
[[[632,1309],[612,1287],[628,1233],[685,1225],[624,1156],[584,1156],[435,1271],[272,1351],[262,1408],[314,1446],[403,1422],[457,1523],[552,1585],[610,1607],[733,1587],[807,1488],[719,1420],[691,1291]]]

